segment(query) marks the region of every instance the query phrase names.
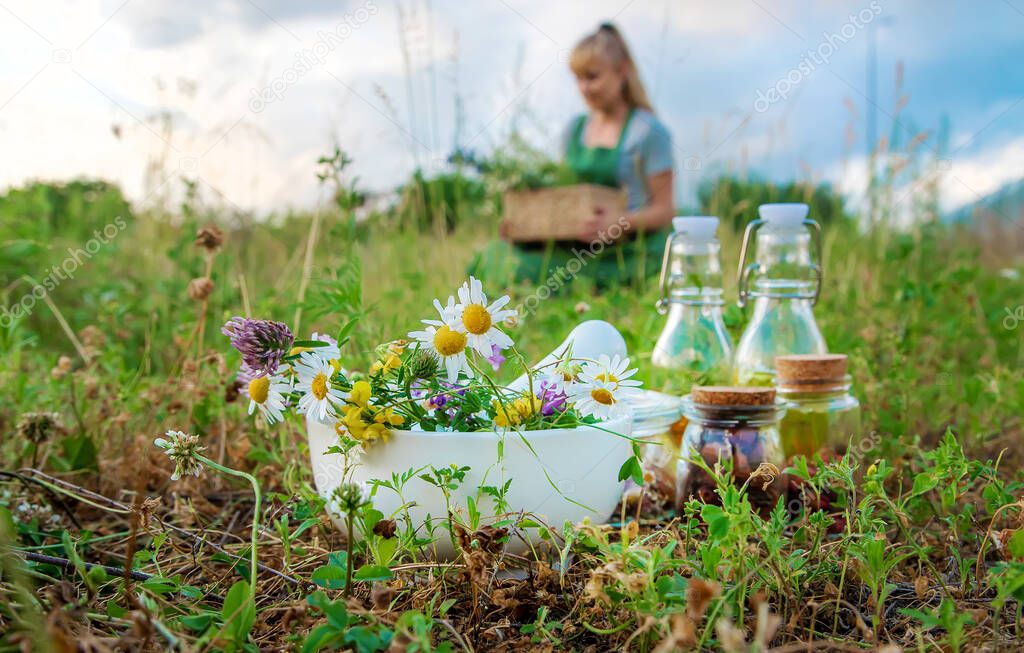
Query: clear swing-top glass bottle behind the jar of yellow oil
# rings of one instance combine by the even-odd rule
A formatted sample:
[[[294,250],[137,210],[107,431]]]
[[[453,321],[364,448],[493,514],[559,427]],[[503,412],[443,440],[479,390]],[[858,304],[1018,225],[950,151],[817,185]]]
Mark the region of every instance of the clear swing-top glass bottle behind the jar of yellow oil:
[[[743,233],[737,273],[739,305],[754,298],[733,366],[741,386],[772,385],[776,356],[827,351],[813,311],[821,292],[821,227],[807,218],[806,204],[765,204],[758,212]]]

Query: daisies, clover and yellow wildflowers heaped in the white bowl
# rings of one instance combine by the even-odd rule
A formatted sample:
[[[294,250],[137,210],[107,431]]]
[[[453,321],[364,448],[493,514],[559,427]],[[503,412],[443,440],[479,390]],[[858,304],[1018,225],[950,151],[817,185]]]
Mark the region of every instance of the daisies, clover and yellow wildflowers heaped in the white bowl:
[[[629,359],[572,358],[570,351],[543,368],[529,368],[502,324],[514,323],[509,296],[488,302],[476,278],[458,289],[436,315],[407,339],[375,349],[366,372],[349,372],[339,337],[314,333],[297,341],[281,322],[233,317],[222,333],[242,354],[239,381],[249,412],[268,423],[289,409],[333,425],[343,439],[367,447],[392,430],[434,432],[574,428],[625,415],[639,381]],[[508,357],[526,383],[499,386],[492,378]]]

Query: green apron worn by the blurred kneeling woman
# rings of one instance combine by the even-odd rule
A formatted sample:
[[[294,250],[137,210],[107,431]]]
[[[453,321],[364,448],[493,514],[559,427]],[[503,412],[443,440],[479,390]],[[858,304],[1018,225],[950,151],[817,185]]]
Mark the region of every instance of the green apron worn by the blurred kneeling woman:
[[[565,163],[579,179],[617,188],[618,162],[633,119],[630,111],[614,147],[587,147],[583,143],[586,117],[577,122],[566,146]],[[633,285],[657,273],[668,231],[633,233],[615,245],[549,242],[521,245],[498,241],[477,253],[469,273],[498,286],[515,281],[546,285],[558,292],[568,282],[586,277],[597,288]]]

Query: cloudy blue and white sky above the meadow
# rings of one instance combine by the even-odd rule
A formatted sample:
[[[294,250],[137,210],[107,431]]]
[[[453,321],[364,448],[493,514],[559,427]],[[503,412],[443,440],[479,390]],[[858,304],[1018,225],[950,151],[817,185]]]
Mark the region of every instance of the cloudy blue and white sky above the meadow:
[[[946,208],[1024,176],[1024,0],[0,0],[0,188],[86,175],[143,202],[184,176],[266,212],[316,202],[334,142],[379,190],[513,129],[554,151],[602,19],[682,203],[730,170],[855,195],[872,106],[879,137],[929,132]]]

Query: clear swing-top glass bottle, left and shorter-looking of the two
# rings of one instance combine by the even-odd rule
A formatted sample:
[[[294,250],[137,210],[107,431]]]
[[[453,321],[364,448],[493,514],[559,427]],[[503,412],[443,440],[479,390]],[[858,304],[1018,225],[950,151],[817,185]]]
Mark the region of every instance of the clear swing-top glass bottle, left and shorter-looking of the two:
[[[677,217],[665,244],[659,313],[665,329],[651,352],[651,364],[678,371],[674,389],[689,392],[694,384],[724,381],[732,356],[732,340],[722,320],[721,246],[718,218]]]

